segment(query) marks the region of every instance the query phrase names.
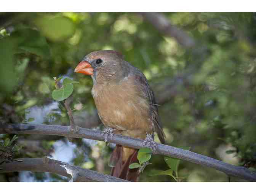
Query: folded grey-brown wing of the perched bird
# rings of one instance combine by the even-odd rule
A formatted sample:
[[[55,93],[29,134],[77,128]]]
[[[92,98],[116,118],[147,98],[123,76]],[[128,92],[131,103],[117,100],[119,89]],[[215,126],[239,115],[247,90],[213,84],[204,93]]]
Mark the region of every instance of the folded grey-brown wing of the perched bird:
[[[147,82],[147,78],[138,68],[134,67],[134,71],[132,74],[135,78],[136,83],[138,83],[138,85],[141,86],[144,96],[149,100],[150,114],[152,116],[152,121],[155,126],[153,127],[153,129],[155,129],[155,132],[157,132],[160,142],[165,144],[166,136],[162,129],[162,123],[158,114],[159,105],[155,101],[154,92],[150,88],[149,83]]]

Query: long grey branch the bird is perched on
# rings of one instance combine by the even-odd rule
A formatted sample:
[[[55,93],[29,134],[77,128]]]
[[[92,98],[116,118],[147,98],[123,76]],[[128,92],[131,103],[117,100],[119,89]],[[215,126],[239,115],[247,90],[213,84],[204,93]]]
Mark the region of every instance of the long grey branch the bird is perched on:
[[[78,127],[78,131],[74,133],[70,132],[68,126],[42,124],[8,124],[6,126],[0,126],[0,134],[47,134],[104,141],[104,138],[102,138],[99,131]],[[109,142],[139,149],[142,147],[143,140],[122,135],[114,135]],[[212,167],[226,173],[228,176],[240,177],[248,181],[256,181],[256,173],[253,173],[244,167],[227,164],[189,150],[157,143],[157,154],[179,158],[206,167]]]

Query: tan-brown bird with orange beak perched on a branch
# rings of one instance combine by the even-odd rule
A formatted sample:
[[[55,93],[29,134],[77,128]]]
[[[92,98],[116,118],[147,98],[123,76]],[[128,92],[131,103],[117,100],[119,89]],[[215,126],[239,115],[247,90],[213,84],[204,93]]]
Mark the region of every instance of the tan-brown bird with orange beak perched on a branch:
[[[93,51],[77,65],[75,73],[90,75],[91,94],[99,118],[105,126],[105,142],[114,134],[147,139],[154,132],[165,144],[165,134],[158,114],[154,92],[146,76],[124,59],[118,51]],[[154,140],[153,140],[154,141]],[[138,149],[116,145],[110,157],[111,175],[138,181],[138,169],[129,165],[138,162]]]

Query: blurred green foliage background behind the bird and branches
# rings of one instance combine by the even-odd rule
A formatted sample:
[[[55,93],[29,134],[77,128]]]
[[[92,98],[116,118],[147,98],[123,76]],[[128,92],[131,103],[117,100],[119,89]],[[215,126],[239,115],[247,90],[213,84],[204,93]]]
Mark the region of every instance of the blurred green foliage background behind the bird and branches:
[[[182,47],[137,13],[0,13],[0,121],[69,125],[62,103],[51,98],[53,77],[68,76],[80,82],[73,92],[76,123],[98,129],[91,78],[73,71],[89,52],[113,49],[144,72],[158,99],[173,90],[168,81],[186,70],[193,72],[186,84],[161,100],[168,145],[190,146],[191,151],[230,164],[255,167],[256,14],[163,14],[206,48],[206,54],[200,47]],[[0,134],[2,141],[12,136]],[[85,139],[70,143],[46,135],[18,137],[16,144],[22,148],[16,157],[51,156],[110,172],[112,144]],[[163,156],[153,156],[152,163],[140,181],[174,181],[167,175],[149,176],[153,170],[168,169]],[[183,181],[228,180],[222,172],[185,161],[179,165],[179,176],[187,176]],[[0,181],[67,179],[14,172],[0,174]]]

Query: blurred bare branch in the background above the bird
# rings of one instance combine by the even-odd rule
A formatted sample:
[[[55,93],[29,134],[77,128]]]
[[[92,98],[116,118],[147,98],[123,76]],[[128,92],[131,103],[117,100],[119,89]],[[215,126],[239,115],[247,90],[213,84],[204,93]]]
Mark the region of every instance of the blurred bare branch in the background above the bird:
[[[163,16],[163,14],[157,12],[141,12],[140,14],[158,31],[166,36],[174,37],[182,46],[191,48],[196,45],[192,37],[190,37],[186,32],[172,25],[170,21]]]

